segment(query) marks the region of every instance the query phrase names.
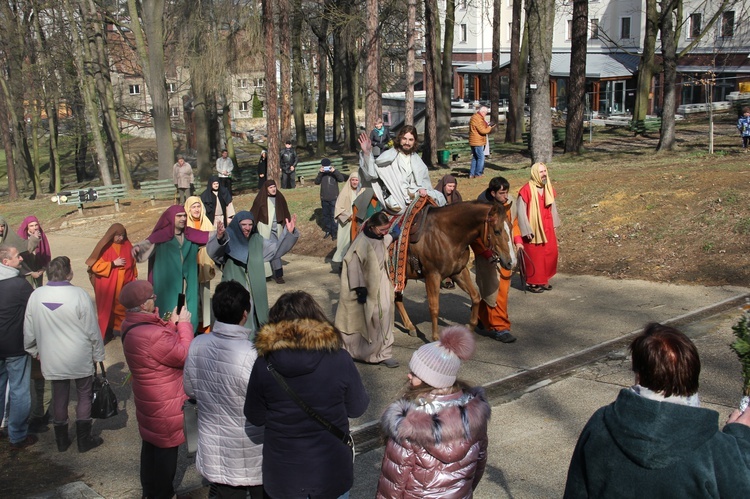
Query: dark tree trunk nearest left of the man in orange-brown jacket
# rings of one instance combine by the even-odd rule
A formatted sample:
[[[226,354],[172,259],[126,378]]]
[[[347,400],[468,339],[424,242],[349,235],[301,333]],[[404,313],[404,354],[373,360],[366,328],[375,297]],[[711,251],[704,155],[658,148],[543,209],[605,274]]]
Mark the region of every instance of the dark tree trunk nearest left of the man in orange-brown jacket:
[[[437,11],[436,11],[437,12]],[[439,33],[440,24],[437,24],[437,30]],[[451,134],[451,97],[453,94],[453,35],[456,28],[456,0],[446,0],[445,3],[445,38],[443,38],[443,53],[436,54],[442,60],[442,66],[440,67],[439,79],[435,80],[436,88],[439,85],[439,93],[436,97],[440,99],[438,102],[437,112],[437,149],[444,149],[445,143],[450,140]],[[435,37],[435,40],[439,40],[440,37]],[[437,48],[437,44],[435,44]],[[437,61],[438,59],[436,59]],[[437,152],[436,152],[437,154]],[[437,164],[437,156],[435,156],[435,164]]]

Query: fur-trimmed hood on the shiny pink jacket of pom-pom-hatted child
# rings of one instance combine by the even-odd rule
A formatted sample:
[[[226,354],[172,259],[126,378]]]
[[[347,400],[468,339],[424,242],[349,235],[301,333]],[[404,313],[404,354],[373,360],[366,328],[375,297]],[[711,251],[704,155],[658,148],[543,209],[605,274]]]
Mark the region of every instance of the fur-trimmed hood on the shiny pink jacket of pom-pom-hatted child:
[[[470,446],[487,434],[492,409],[482,388],[472,388],[465,395],[468,400],[447,404],[434,415],[413,401],[398,400],[383,413],[380,420],[383,432],[401,445],[424,447],[438,458],[441,448],[451,452],[462,443]],[[440,396],[436,400],[453,396]]]

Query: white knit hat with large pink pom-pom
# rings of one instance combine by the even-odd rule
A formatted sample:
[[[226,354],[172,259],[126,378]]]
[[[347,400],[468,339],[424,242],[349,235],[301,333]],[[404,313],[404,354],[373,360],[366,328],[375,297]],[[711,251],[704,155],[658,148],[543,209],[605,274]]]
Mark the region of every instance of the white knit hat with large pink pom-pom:
[[[451,326],[440,332],[440,340],[419,347],[409,361],[415,376],[435,388],[448,388],[456,382],[462,360],[474,353],[474,335],[463,326]]]

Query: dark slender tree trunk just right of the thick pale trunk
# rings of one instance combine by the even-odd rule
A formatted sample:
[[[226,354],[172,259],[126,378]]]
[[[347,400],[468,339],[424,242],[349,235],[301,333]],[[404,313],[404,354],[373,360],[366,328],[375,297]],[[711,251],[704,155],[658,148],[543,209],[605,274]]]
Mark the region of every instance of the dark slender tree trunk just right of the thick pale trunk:
[[[586,110],[586,46],[588,44],[589,2],[573,3],[573,33],[568,80],[568,118],[565,123],[565,152],[578,153],[583,146],[583,119]]]

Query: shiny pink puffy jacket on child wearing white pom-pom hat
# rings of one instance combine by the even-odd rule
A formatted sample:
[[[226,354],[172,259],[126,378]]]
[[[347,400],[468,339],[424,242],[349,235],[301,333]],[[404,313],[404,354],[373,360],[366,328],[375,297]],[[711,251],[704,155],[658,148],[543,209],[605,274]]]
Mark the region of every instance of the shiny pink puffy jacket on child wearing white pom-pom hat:
[[[490,411],[481,388],[391,404],[380,420],[388,443],[377,497],[472,497],[487,463]]]

